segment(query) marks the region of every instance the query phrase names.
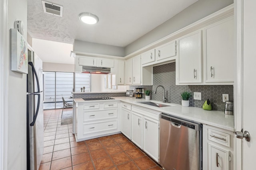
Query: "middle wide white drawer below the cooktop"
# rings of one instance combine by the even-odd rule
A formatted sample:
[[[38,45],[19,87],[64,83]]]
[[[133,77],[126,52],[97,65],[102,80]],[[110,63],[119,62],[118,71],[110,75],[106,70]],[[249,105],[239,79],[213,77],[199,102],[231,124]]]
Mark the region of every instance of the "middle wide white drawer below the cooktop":
[[[99,119],[109,119],[117,117],[117,109],[100,110],[100,111],[84,111],[84,121],[92,121]]]

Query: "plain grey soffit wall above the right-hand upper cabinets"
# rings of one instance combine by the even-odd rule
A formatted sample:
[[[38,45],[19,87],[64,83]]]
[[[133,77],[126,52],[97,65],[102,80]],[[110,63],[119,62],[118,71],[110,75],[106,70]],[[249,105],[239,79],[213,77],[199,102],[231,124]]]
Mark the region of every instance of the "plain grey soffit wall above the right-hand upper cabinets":
[[[146,45],[154,43],[155,41],[194,23],[222,8],[233,4],[233,0],[198,0],[176,16],[170,18],[163,24],[159,25],[152,31],[146,33],[136,41],[127,45],[124,49],[125,55],[128,55]]]

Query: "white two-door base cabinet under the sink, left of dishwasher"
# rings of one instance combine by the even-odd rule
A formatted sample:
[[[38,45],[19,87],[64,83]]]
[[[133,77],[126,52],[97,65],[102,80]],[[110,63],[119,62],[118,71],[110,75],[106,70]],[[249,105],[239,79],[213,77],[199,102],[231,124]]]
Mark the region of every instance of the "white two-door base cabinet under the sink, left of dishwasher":
[[[158,162],[160,112],[132,106],[131,140]]]

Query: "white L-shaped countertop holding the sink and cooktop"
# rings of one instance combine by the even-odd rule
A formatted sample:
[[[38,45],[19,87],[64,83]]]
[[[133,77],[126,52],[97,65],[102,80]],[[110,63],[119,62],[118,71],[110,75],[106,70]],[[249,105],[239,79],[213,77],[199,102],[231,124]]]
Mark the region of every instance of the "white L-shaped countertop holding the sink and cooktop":
[[[215,127],[219,127],[222,129],[226,129],[229,131],[234,131],[234,115],[225,115],[223,111],[209,111],[209,110],[204,110],[199,107],[182,107],[179,104],[170,104],[170,103],[162,103],[165,105],[170,105],[166,107],[155,107],[155,106],[150,106],[138,102],[143,102],[146,101],[145,99],[136,99],[135,97],[130,98],[130,97],[114,97],[114,100],[108,100],[108,101],[122,101],[122,102],[127,102],[132,105],[137,105],[141,107],[146,107],[148,109],[160,111],[163,113],[168,113],[170,115],[174,115],[177,117],[182,117],[184,119],[189,119],[192,121],[197,121],[199,123],[203,123],[206,125],[212,125]],[[74,99],[74,102],[76,103],[81,103],[81,102],[106,102],[106,100],[88,100],[85,101],[82,98],[76,98]],[[154,100],[151,100],[154,101]],[[157,103],[161,103],[159,101],[154,101]],[[175,106],[171,106],[175,105]]]

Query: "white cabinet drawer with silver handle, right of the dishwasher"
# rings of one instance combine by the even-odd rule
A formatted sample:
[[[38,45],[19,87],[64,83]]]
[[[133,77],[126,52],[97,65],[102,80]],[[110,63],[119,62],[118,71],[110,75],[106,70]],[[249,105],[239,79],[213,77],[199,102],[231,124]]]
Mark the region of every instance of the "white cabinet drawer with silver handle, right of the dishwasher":
[[[208,129],[208,140],[230,147],[230,134]]]

